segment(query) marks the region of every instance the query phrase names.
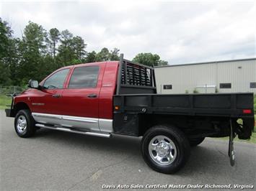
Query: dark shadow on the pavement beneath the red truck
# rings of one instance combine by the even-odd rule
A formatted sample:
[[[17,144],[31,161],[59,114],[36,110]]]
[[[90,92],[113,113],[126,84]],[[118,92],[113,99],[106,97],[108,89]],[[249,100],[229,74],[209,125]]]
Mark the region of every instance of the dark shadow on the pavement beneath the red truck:
[[[142,168],[146,167],[144,160],[141,157],[140,141],[141,138],[133,136],[113,136],[111,139],[101,138],[97,136],[86,136],[81,134],[70,134],[63,131],[53,131],[49,129],[40,129],[37,131],[35,139],[43,139],[50,141],[60,146],[65,146],[66,149],[91,149],[94,154],[107,154],[120,157],[125,154],[131,163],[136,163]],[[228,166],[228,167],[227,167]],[[146,167],[146,171],[153,173],[153,170]],[[177,176],[191,176],[191,174],[213,174],[221,171],[225,173],[229,167],[229,158],[226,153],[226,147],[216,149],[208,140],[200,146],[191,148],[190,159],[187,164],[179,172]],[[152,172],[151,172],[152,171]],[[158,173],[158,172],[154,172]]]

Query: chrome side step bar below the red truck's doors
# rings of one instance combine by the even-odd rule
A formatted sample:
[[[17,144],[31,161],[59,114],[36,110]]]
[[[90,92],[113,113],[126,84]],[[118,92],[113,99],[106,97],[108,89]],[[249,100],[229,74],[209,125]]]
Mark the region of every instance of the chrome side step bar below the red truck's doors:
[[[74,134],[86,134],[86,135],[91,135],[91,136],[101,136],[105,138],[110,138],[111,134],[104,134],[104,133],[96,133],[96,132],[90,132],[90,131],[77,131],[74,129],[69,129],[65,127],[52,127],[52,126],[46,126],[44,124],[35,124],[35,126],[38,127],[43,127],[45,129],[53,129],[53,130],[58,130],[58,131],[66,131]]]

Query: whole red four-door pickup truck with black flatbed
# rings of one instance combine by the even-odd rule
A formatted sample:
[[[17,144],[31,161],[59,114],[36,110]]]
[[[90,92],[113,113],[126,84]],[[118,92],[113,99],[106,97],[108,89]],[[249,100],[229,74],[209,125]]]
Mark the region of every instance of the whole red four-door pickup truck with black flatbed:
[[[141,152],[152,169],[177,172],[190,146],[206,136],[250,139],[254,127],[252,93],[156,94],[154,68],[120,61],[62,67],[13,96],[6,116],[18,136],[39,128],[102,136],[143,136]],[[237,122],[239,120],[239,122]],[[242,121],[242,123],[241,123]]]

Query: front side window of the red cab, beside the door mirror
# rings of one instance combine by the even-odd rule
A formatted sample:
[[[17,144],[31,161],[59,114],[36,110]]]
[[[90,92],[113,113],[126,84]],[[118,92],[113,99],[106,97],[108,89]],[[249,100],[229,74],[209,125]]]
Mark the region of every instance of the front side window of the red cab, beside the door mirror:
[[[43,87],[46,89],[61,89],[63,88],[66,75],[69,73],[69,69],[60,70],[57,73],[51,75],[45,80]]]

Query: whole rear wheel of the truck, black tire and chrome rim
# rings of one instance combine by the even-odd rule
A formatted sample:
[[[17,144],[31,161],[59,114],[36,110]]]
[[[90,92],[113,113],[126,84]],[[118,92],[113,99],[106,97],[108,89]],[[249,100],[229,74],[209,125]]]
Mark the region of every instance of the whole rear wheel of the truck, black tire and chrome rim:
[[[175,126],[154,126],[144,134],[141,152],[149,167],[172,174],[187,162],[190,144],[185,134]]]

